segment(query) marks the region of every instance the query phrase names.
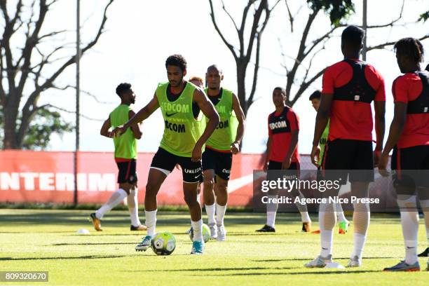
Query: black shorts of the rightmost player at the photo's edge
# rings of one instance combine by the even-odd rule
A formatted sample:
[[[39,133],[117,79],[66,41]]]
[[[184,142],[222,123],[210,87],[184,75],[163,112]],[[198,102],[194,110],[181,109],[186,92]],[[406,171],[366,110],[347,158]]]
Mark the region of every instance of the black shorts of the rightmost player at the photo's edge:
[[[429,145],[393,149],[390,163],[393,183],[401,186],[429,186]]]

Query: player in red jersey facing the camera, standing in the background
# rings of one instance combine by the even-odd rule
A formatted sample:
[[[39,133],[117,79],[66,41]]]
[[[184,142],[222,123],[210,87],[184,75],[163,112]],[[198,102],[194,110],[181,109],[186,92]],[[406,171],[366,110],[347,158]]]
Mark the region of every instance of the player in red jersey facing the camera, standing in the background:
[[[299,121],[297,114],[285,104],[286,90],[274,88],[273,104],[275,111],[268,116],[268,142],[266,144],[266,160],[264,170],[292,170],[294,176],[299,175],[298,135]],[[270,173],[267,175],[270,179]],[[271,178],[277,179],[277,178]],[[301,192],[293,189],[292,196],[304,198]],[[268,198],[278,198],[278,190],[268,192]],[[311,219],[307,206],[297,203],[301,213],[302,231],[311,231]],[[269,204],[266,208],[266,224],[258,232],[275,232],[275,216],[278,204]]]

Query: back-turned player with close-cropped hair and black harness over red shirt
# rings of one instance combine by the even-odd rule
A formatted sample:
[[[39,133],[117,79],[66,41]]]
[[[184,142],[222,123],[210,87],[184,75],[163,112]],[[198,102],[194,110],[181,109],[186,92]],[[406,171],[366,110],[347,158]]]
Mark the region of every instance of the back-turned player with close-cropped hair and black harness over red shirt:
[[[341,34],[341,52],[344,60],[328,67],[323,74],[322,97],[316,117],[311,160],[318,163],[320,138],[329,121],[329,135],[322,171],[327,180],[346,184],[349,175],[352,196],[368,198],[369,182],[374,181],[374,165],[381,156],[384,137],[386,93],[384,80],[370,64],[359,60],[364,30],[348,26]],[[374,101],[376,147],[372,149],[372,107]],[[341,176],[329,170],[343,170]],[[352,172],[349,172],[352,170]],[[361,170],[354,171],[353,170]],[[348,174],[350,173],[350,174]],[[328,177],[329,175],[329,177]],[[325,198],[338,196],[339,189],[329,189]],[[328,200],[329,202],[329,200]],[[362,252],[369,226],[369,205],[353,203],[353,252],[349,267],[362,265]],[[332,262],[333,229],[336,224],[335,205],[322,203],[319,208],[320,255],[306,267],[324,267]]]

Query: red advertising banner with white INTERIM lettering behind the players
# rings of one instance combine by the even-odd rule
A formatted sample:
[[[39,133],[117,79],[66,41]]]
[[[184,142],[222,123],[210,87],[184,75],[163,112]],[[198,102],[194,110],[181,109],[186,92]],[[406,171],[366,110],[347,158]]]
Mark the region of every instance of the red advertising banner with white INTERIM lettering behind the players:
[[[154,154],[137,159],[139,203]],[[229,205],[252,203],[252,172],[259,169],[260,154],[233,156],[229,182]],[[73,203],[74,153],[51,151],[0,151],[0,201]],[[117,189],[117,167],[112,153],[78,153],[79,203],[104,203]],[[182,171],[174,170],[158,193],[159,205],[184,205]]]

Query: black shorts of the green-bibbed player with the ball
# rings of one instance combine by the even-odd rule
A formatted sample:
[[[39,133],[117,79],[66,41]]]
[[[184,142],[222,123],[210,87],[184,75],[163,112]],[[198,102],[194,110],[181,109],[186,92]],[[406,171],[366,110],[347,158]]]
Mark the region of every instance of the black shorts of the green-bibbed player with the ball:
[[[161,147],[156,151],[152,159],[151,168],[165,170],[170,173],[177,164],[182,168],[183,182],[197,183],[202,181],[201,161],[192,162],[191,157],[177,156]]]

